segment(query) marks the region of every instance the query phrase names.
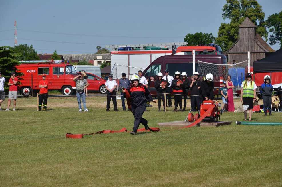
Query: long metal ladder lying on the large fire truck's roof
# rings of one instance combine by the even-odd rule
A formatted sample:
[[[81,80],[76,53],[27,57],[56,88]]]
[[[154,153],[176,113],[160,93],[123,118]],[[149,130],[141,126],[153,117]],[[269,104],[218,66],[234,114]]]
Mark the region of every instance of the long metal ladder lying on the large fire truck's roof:
[[[118,45],[107,45],[106,48],[111,48],[112,50],[118,50],[118,48],[126,48],[126,47],[132,47],[132,48],[140,48],[140,50],[144,50],[145,47],[153,47],[153,46],[162,46],[168,48],[168,50],[172,50],[175,48],[175,46],[185,46],[187,45],[187,42],[168,42],[168,43],[156,43],[156,44],[118,44]]]

